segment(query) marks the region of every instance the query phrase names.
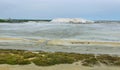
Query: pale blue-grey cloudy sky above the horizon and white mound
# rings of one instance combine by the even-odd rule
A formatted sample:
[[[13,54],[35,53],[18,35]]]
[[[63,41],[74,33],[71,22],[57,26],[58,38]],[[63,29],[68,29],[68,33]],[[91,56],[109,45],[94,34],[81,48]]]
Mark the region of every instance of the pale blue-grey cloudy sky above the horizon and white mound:
[[[0,0],[0,18],[120,20],[120,0]]]

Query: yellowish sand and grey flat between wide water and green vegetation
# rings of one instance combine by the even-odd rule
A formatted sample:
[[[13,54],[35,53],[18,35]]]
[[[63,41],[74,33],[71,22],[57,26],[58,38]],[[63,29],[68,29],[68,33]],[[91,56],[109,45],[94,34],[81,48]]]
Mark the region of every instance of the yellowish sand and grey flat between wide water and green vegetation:
[[[0,38],[0,49],[120,55],[120,42]]]

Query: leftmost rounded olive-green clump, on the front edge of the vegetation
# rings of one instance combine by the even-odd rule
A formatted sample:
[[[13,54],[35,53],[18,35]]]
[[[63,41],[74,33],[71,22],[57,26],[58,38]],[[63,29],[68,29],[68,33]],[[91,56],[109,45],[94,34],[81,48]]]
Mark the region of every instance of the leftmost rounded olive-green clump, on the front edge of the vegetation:
[[[22,56],[2,54],[0,55],[0,64],[10,64],[10,65],[26,65],[30,64],[30,61],[25,60]]]

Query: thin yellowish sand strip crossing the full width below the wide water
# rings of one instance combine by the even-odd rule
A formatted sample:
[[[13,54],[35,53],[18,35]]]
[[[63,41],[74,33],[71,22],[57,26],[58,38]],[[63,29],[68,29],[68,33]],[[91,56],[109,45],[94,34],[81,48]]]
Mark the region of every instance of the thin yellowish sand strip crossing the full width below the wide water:
[[[0,42],[2,41],[29,41],[34,42],[37,44],[46,43],[46,45],[79,45],[79,44],[85,44],[85,45],[111,45],[111,46],[120,46],[120,42],[114,42],[114,41],[82,41],[82,40],[46,40],[46,39],[40,39],[40,40],[28,40],[28,39],[22,39],[22,38],[0,38]],[[47,42],[46,42],[47,41]]]

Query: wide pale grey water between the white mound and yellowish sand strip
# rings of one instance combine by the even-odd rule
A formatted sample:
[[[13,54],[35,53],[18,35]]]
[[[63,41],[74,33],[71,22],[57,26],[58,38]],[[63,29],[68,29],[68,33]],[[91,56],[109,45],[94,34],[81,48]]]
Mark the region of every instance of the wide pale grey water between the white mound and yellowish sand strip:
[[[120,41],[120,24],[0,24],[0,37]]]

